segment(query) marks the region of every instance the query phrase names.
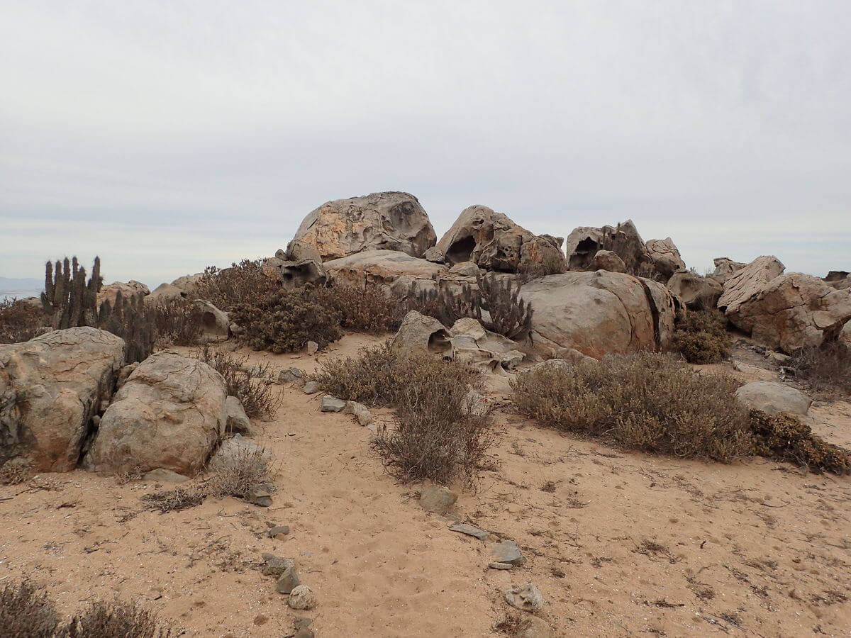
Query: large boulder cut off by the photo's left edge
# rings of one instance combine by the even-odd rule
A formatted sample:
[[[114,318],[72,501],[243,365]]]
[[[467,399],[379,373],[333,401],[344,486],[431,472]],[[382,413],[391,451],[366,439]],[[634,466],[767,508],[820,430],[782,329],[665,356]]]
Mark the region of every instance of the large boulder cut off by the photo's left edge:
[[[0,345],[0,463],[20,455],[39,472],[76,468],[123,359],[123,339],[97,328]]]

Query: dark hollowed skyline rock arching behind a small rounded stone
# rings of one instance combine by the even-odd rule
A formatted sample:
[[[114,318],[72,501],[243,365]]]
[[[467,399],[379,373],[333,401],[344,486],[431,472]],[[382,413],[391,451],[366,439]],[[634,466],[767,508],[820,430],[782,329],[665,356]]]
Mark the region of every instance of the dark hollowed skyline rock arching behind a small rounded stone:
[[[617,226],[576,228],[568,235],[564,250],[568,255],[568,270],[571,271],[597,270],[594,257],[600,250],[617,254],[624,262],[625,272],[630,275],[650,276],[654,271],[647,245],[631,219]]]

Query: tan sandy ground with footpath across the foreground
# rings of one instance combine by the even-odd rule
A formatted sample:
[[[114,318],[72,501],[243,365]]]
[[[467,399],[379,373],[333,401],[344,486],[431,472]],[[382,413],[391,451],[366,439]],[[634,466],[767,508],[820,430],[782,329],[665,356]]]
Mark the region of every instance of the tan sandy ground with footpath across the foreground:
[[[377,340],[350,335],[323,356]],[[742,380],[774,374],[722,368]],[[851,635],[848,477],[625,453],[503,404],[494,469],[457,507],[523,548],[523,567],[496,571],[485,543],[450,532],[452,520],[420,509],[415,486],[386,475],[367,428],[277,387],[277,417],[257,424],[280,466],[271,508],[225,498],[161,515],[140,497],[172,486],[38,476],[0,487],[0,584],[28,575],[68,613],[115,595],[140,601],[190,636],[284,636],[296,617],[313,618],[317,636],[501,635],[511,612],[501,590],[529,581],[554,635]],[[492,388],[499,402],[505,383]],[[811,414],[820,434],[851,447],[851,404]],[[286,540],[266,538],[273,523],[290,526]],[[318,607],[290,610],[257,570],[261,551],[293,557]]]

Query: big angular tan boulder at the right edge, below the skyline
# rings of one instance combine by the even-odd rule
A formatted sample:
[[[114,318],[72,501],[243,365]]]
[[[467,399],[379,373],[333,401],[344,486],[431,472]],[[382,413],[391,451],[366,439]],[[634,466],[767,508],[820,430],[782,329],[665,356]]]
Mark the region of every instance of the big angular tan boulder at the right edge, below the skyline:
[[[722,296],[719,305],[723,301]],[[728,305],[727,316],[762,345],[791,354],[837,339],[851,320],[851,290],[836,290],[800,272],[786,273]]]

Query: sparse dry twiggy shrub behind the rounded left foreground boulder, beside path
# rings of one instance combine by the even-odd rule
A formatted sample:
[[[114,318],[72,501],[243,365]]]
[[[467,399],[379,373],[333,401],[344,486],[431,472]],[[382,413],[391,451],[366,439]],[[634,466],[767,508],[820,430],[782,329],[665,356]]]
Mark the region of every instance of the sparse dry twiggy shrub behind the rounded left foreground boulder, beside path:
[[[268,364],[249,366],[247,356],[236,356],[209,345],[197,350],[194,356],[224,377],[228,396],[236,396],[243,403],[248,418],[271,416],[281,405],[282,397],[272,388]]]

